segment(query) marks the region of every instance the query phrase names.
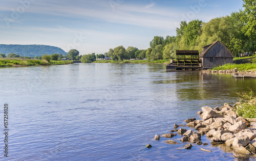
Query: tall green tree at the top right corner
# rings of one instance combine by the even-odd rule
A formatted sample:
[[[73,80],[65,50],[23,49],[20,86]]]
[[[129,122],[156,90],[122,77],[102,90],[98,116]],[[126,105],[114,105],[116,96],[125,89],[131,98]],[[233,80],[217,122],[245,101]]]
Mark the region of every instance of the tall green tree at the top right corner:
[[[243,31],[245,35],[251,40],[256,39],[256,1],[255,0],[243,0],[243,7],[245,8],[245,15],[241,17],[241,20],[245,23]]]

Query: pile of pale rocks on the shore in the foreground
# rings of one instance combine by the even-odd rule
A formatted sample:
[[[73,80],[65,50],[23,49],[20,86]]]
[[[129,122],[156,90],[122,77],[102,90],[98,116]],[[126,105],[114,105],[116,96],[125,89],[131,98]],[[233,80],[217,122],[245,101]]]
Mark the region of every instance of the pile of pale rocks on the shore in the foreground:
[[[202,107],[202,111],[197,112],[201,120],[191,118],[184,120],[186,126],[192,127],[195,130],[187,130],[182,128],[185,125],[174,124],[174,129],[170,133],[163,134],[164,138],[173,138],[177,133],[182,136],[181,142],[188,142],[182,148],[191,149],[193,144],[208,145],[201,142],[201,137],[206,135],[211,141],[211,145],[225,146],[231,149],[233,153],[242,155],[255,155],[256,154],[256,119],[246,119],[238,117],[233,107],[240,105],[240,102],[233,106],[224,104],[221,108],[215,109],[209,106]],[[177,132],[177,133],[176,133]],[[156,135],[155,140],[159,140],[160,136]],[[177,141],[177,139],[176,139]],[[167,144],[179,144],[174,140],[164,141]],[[208,149],[201,148],[206,152],[211,152]]]

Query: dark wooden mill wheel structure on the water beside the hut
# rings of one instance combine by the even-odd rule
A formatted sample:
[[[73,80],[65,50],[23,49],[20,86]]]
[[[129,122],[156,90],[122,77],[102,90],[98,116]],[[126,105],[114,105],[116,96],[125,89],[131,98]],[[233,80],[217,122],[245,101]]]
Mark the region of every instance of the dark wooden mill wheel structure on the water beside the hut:
[[[166,66],[167,71],[200,70],[198,50],[176,50],[176,61]]]

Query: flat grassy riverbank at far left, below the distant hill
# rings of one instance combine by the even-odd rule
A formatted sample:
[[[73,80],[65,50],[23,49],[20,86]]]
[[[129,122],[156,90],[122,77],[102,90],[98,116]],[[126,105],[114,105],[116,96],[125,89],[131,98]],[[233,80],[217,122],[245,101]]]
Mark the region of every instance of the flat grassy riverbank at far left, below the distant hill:
[[[36,65],[64,65],[72,61],[50,61],[33,59],[0,59],[0,67],[36,66]]]

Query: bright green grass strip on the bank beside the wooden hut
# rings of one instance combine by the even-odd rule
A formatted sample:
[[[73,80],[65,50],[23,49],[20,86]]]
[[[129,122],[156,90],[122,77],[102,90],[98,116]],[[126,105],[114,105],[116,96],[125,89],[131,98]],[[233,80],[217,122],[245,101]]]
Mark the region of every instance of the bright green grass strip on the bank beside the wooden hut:
[[[248,71],[248,70],[256,70],[256,63],[246,63],[246,64],[225,64],[223,66],[215,67],[211,70],[232,70],[237,68],[238,71]]]

